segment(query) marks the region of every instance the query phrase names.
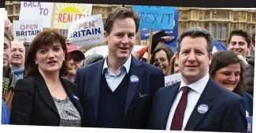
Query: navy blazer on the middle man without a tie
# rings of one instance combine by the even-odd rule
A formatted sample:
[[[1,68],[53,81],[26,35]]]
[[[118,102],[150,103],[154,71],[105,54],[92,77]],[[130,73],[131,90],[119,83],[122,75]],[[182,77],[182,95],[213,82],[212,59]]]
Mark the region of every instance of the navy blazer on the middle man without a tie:
[[[104,60],[78,68],[75,83],[80,88],[80,102],[84,109],[83,127],[96,127],[100,84]],[[131,76],[139,78],[138,84],[128,83],[128,94],[121,128],[147,128],[154,95],[165,86],[164,74],[160,68],[138,61],[132,57]]]

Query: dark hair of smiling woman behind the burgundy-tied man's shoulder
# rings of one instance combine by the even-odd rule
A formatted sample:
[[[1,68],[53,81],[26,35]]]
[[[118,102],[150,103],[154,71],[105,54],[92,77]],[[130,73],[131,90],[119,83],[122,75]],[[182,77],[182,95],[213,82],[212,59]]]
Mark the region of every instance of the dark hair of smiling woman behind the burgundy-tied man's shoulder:
[[[247,91],[247,85],[244,76],[245,68],[243,62],[233,51],[223,50],[213,54],[213,59],[210,64],[210,76],[213,77],[217,70],[221,68],[238,63],[241,66],[240,79],[233,92],[236,94],[243,94]]]

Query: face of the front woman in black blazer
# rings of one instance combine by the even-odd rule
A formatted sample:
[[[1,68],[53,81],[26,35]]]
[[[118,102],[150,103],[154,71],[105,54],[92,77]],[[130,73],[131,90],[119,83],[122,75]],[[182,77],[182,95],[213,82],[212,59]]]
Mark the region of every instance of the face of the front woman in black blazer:
[[[41,46],[35,56],[39,72],[59,72],[65,59],[65,52],[59,42],[54,42],[51,46]]]

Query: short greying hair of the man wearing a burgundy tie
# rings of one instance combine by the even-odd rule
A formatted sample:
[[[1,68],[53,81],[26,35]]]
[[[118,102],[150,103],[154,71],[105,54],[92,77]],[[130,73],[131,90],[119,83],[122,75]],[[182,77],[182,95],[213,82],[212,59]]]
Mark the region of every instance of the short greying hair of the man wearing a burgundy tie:
[[[205,28],[200,28],[200,27],[194,27],[194,28],[189,28],[187,31],[184,31],[180,34],[180,37],[177,39],[177,53],[180,53],[180,43],[184,37],[190,36],[191,38],[196,38],[196,37],[204,37],[206,38],[207,41],[207,52],[208,54],[211,54],[213,51],[213,35],[210,34],[209,31],[207,31]]]

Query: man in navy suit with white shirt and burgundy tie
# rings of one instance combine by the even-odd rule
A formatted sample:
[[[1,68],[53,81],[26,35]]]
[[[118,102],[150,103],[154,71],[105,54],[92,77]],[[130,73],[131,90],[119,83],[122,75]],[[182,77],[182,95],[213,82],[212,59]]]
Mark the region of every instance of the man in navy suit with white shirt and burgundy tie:
[[[213,37],[203,28],[184,31],[177,41],[181,81],[158,90],[148,128],[176,131],[247,132],[242,97],[209,76]]]

